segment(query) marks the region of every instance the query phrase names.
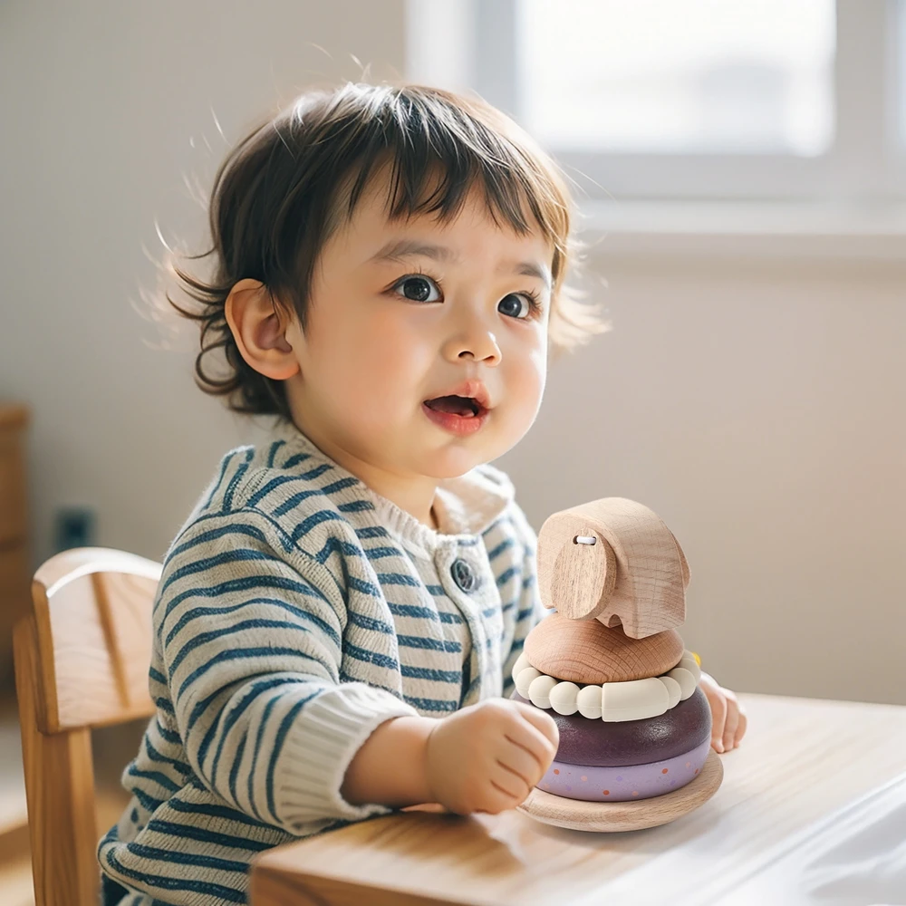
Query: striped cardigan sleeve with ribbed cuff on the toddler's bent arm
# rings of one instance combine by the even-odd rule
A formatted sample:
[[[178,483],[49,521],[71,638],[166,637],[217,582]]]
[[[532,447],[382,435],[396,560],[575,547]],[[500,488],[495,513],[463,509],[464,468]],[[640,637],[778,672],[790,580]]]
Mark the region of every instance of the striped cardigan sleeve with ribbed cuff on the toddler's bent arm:
[[[418,713],[390,691],[341,682],[346,620],[332,574],[287,553],[254,510],[188,525],[164,564],[152,695],[201,784],[290,833],[389,812],[345,801],[343,776],[382,722]]]

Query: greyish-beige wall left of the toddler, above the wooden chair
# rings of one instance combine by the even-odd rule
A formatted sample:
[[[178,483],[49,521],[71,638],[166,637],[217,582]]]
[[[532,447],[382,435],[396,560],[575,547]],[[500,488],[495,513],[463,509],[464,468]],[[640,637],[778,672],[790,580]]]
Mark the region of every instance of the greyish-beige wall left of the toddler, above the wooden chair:
[[[133,303],[167,239],[198,242],[207,187],[262,111],[305,85],[401,72],[403,0],[50,0],[0,5],[0,397],[34,410],[34,551],[55,508],[161,557],[244,424],[195,390]],[[210,145],[210,149],[208,149]],[[193,147],[194,146],[194,147]]]

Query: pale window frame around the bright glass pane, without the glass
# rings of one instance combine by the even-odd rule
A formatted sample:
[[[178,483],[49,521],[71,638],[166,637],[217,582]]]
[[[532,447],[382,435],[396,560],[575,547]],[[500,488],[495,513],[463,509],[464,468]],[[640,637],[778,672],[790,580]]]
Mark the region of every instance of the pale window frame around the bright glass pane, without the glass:
[[[409,0],[408,77],[477,92],[519,120],[518,3]],[[906,0],[836,0],[835,7],[835,127],[823,155],[550,150],[590,200],[877,205],[906,199],[900,93],[906,66],[898,53],[906,46]],[[446,36],[440,52],[430,39],[438,34]]]

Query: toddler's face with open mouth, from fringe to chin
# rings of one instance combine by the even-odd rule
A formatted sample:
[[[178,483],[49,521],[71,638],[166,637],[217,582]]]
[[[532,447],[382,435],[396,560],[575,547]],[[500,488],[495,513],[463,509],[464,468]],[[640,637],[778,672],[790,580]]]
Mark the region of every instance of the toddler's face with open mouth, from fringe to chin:
[[[540,231],[496,226],[478,192],[446,226],[433,215],[389,221],[386,184],[374,182],[323,248],[304,334],[297,324],[286,334],[300,367],[287,388],[294,419],[394,475],[459,476],[535,420],[552,248]],[[443,427],[425,401],[468,380],[487,388],[481,427]]]

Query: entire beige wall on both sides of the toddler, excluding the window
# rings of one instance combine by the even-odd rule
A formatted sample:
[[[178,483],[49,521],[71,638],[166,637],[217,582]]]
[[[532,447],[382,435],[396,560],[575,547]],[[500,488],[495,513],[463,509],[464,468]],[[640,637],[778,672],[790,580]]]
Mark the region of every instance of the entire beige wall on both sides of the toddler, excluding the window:
[[[234,139],[295,87],[358,77],[349,54],[391,74],[402,24],[402,0],[3,5],[0,396],[34,410],[36,558],[72,502],[97,508],[101,544],[160,557],[251,435],[194,389],[190,335],[151,348],[130,306],[153,282],[155,218],[199,235],[181,180],[207,183],[224,151],[211,108]],[[554,367],[535,428],[498,463],[535,526],[634,497],[689,556],[684,637],[721,681],[906,703],[903,269],[594,270],[614,331]]]

